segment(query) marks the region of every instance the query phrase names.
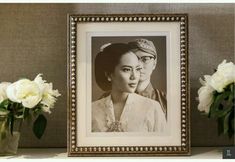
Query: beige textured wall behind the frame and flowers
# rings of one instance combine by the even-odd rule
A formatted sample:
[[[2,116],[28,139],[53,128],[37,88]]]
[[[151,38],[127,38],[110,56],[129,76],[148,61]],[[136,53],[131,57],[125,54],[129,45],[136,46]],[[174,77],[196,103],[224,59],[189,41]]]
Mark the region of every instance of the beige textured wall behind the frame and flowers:
[[[62,96],[37,140],[24,124],[20,146],[66,147],[67,14],[188,13],[193,146],[232,145],[216,121],[197,111],[198,78],[223,60],[234,61],[234,4],[0,4],[0,81],[43,73]]]

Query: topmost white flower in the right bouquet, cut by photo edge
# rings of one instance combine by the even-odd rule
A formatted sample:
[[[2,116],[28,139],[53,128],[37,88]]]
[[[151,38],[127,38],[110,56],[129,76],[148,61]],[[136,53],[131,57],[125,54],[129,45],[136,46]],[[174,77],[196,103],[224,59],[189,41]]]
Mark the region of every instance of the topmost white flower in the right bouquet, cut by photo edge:
[[[212,75],[210,85],[217,92],[223,92],[224,88],[231,83],[235,83],[235,65],[232,62],[226,63],[224,60]]]

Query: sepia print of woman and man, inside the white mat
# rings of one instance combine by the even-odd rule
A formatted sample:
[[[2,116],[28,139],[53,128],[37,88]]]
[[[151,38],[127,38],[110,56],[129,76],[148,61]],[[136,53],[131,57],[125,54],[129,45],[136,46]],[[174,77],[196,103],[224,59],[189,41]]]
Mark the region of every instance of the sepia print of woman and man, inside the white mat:
[[[166,36],[93,36],[92,132],[167,129]]]

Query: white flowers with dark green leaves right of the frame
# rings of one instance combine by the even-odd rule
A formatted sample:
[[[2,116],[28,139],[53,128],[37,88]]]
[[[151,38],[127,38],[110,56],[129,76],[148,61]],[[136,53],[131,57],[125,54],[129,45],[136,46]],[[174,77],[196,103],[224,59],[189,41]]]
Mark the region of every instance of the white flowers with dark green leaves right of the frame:
[[[218,134],[234,135],[235,65],[224,60],[213,75],[200,79],[198,110],[218,123]]]

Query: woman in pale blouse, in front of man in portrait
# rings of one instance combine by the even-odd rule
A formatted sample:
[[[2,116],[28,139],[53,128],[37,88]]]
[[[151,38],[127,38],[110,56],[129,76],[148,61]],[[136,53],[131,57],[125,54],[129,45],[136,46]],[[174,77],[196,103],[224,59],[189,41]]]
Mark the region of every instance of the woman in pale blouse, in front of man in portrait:
[[[134,93],[142,67],[129,45],[104,45],[94,68],[98,86],[109,95],[92,103],[92,132],[164,132],[159,102]]]

